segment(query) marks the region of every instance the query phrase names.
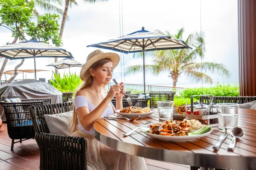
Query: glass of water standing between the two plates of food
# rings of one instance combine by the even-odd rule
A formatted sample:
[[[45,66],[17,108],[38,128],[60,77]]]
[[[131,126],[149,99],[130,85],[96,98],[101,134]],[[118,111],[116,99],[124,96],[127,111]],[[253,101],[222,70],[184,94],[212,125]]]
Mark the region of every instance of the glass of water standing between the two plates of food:
[[[157,101],[159,121],[166,121],[173,117],[174,101]]]

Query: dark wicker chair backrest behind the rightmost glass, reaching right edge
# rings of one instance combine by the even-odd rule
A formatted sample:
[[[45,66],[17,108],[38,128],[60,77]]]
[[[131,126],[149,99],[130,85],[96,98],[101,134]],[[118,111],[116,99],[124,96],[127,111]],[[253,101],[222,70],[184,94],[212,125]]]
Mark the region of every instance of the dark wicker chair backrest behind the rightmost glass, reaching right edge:
[[[256,96],[214,96],[213,103],[237,103],[243,104],[248,102],[253,102],[256,100]],[[209,96],[200,96],[200,103],[208,104],[210,103]]]

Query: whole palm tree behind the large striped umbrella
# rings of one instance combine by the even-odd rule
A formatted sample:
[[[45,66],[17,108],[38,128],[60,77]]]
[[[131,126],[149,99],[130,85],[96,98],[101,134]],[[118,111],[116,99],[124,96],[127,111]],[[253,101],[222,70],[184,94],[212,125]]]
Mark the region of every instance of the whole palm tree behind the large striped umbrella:
[[[163,32],[159,30],[157,30],[157,32],[163,34]],[[169,31],[166,31],[165,34],[173,38],[183,39],[183,33],[184,28],[181,28],[175,35],[171,35]],[[169,77],[173,79],[173,87],[176,87],[178,77],[182,73],[195,81],[201,80],[207,83],[212,83],[212,78],[205,74],[207,71],[215,72],[225,77],[230,77],[230,72],[223,64],[215,62],[195,62],[198,57],[204,59],[204,35],[200,35],[197,32],[189,34],[185,42],[187,45],[192,47],[192,49],[184,48],[147,52],[146,57],[152,57],[153,64],[145,65],[145,71],[154,75],[168,72],[170,74]],[[142,57],[142,54],[139,54],[138,56]],[[143,72],[143,65],[130,66],[126,69],[125,73],[136,74],[139,72]]]

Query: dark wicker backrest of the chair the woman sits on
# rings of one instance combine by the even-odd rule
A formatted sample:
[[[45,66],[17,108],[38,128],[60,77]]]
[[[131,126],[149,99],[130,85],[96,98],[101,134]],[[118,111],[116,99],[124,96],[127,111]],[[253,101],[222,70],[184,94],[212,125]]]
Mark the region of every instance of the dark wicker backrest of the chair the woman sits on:
[[[29,109],[35,132],[50,133],[44,119],[45,114],[64,113],[73,110],[73,102],[31,106]]]

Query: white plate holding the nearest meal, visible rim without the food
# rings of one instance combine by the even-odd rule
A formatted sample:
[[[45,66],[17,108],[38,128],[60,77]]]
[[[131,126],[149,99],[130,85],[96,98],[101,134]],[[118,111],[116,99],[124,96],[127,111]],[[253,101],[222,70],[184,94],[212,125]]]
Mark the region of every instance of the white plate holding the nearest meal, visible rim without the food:
[[[149,124],[149,125],[154,125],[154,123]],[[151,137],[156,138],[156,139],[164,140],[164,141],[175,141],[175,142],[192,141],[192,140],[202,138],[202,137],[207,136],[210,133],[212,133],[212,127],[211,127],[209,132],[203,133],[203,134],[200,134],[200,135],[193,135],[193,136],[163,136],[163,135],[156,135],[156,134],[152,134],[152,133],[146,132],[146,131],[150,130],[149,125],[142,126],[140,128],[141,131],[143,133],[145,133],[146,135],[148,135],[148,136],[151,136]]]

